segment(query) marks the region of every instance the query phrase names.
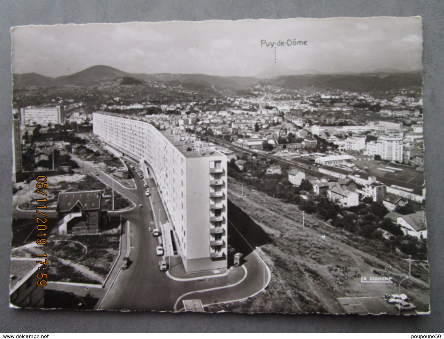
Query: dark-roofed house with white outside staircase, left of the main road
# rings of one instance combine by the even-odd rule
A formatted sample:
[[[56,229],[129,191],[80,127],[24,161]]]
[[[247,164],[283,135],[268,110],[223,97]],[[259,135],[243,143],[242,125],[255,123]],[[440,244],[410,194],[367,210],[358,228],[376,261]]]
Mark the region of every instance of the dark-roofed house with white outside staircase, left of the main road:
[[[102,214],[101,197],[100,190],[59,193],[59,235],[98,233]]]

